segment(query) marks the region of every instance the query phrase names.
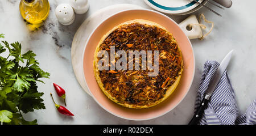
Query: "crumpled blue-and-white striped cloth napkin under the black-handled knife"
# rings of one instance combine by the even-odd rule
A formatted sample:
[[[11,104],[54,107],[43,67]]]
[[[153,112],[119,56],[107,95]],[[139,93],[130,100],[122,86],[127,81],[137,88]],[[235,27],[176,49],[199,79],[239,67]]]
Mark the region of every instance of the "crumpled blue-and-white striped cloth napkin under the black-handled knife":
[[[219,63],[207,61],[204,64],[201,84],[197,92],[195,110],[203,100],[204,92],[207,90],[210,79],[217,71]],[[238,108],[233,86],[229,75],[225,70],[220,82],[217,84],[208,107],[200,120],[201,125],[235,125],[235,124],[256,124],[256,100],[249,106],[246,113],[238,117]]]

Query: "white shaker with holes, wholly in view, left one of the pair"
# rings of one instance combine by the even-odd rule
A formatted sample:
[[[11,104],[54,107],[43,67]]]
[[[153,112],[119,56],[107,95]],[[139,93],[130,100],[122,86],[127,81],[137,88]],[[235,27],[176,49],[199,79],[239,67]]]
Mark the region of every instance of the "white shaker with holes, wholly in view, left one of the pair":
[[[63,25],[70,25],[75,20],[75,13],[69,4],[63,3],[57,6],[55,9],[55,15],[59,23]]]

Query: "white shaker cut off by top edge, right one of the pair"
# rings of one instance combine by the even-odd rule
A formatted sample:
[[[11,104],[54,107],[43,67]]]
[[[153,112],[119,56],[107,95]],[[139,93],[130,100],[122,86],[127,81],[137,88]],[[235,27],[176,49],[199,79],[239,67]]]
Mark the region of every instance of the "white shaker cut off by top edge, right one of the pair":
[[[89,9],[88,0],[69,0],[76,14],[84,14]]]

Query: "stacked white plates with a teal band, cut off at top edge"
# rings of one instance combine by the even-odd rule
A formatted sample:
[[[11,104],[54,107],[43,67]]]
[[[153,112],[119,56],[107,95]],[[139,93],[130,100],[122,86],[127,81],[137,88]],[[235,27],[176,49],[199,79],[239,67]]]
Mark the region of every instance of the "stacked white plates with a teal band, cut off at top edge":
[[[192,0],[144,0],[148,6],[172,15],[185,15],[199,10],[202,6]],[[203,5],[208,0],[196,0]]]

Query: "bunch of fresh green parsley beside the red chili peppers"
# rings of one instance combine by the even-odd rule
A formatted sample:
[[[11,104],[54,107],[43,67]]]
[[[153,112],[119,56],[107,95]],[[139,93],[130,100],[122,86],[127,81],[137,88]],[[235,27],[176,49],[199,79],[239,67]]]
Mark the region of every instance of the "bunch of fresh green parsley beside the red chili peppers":
[[[0,38],[4,38],[0,34]],[[3,46],[3,45],[5,46]],[[36,124],[26,121],[22,113],[33,112],[34,109],[45,109],[36,82],[40,78],[49,78],[49,73],[38,66],[36,54],[31,50],[21,54],[21,45],[14,42],[9,45],[7,41],[0,43],[0,122],[1,124]],[[2,53],[9,50],[8,57]],[[22,66],[20,66],[22,65]],[[23,66],[24,65],[24,66]]]

